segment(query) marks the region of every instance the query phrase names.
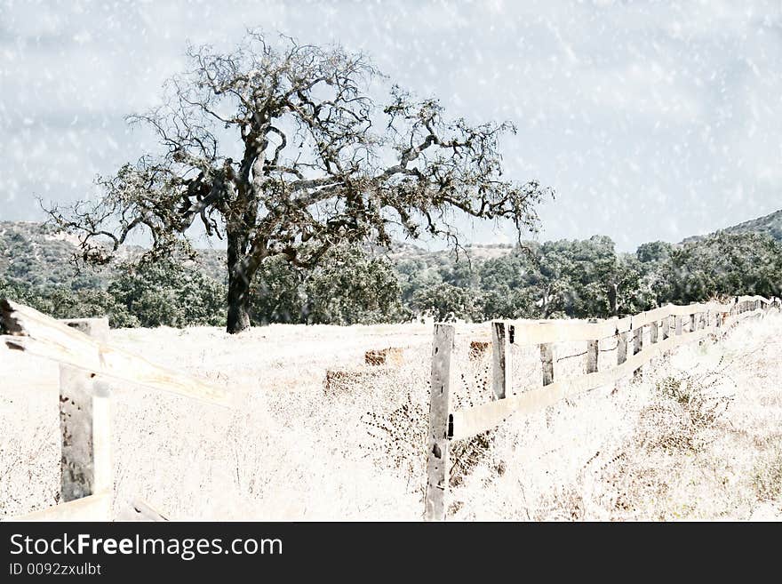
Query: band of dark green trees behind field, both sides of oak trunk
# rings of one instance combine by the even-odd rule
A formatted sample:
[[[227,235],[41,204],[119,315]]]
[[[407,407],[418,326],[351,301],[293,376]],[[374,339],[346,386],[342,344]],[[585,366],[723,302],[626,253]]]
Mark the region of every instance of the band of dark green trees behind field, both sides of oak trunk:
[[[26,243],[14,244],[18,257]],[[128,261],[108,276],[83,273],[54,281],[51,274],[25,268],[24,258],[5,263],[0,297],[55,317],[108,315],[115,327],[224,323],[227,282],[193,262]],[[767,234],[718,233],[618,253],[610,237],[593,236],[528,242],[486,259],[435,252],[393,261],[362,245],[343,244],[315,269],[269,258],[259,270],[251,289],[253,324],[604,318],[668,302],[782,295],[782,244]]]

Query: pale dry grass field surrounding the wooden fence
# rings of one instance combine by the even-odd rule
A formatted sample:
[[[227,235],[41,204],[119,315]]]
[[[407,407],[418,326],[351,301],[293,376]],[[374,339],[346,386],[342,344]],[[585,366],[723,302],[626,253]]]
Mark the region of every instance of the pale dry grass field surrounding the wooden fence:
[[[488,400],[490,356],[468,347],[489,325],[457,331],[455,399]],[[782,518],[780,333],[771,313],[678,349],[642,379],[453,444],[449,519]],[[235,399],[223,409],[113,387],[117,518],[136,497],[175,520],[421,518],[431,326],[135,329],[111,340]],[[404,349],[401,364],[363,363],[387,347]],[[583,348],[557,350],[557,375],[580,371],[583,357],[567,357]],[[519,353],[515,383],[536,383],[539,362]],[[57,502],[58,369],[0,349],[0,380],[2,518]]]

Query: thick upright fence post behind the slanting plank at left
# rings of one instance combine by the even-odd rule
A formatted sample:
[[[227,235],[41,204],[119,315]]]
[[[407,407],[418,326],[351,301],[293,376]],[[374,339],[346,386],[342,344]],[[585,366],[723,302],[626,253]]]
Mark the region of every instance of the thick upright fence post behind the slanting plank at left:
[[[108,340],[108,318],[83,318],[64,323],[101,342]],[[103,383],[96,382],[94,377],[94,373],[60,364],[60,494],[63,502],[82,499],[112,487],[109,396]]]

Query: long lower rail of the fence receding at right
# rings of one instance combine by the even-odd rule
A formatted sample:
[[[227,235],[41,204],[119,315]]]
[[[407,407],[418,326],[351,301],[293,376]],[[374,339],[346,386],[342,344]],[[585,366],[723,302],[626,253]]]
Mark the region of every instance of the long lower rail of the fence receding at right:
[[[635,369],[648,363],[651,358],[659,356],[667,350],[706,337],[711,333],[711,329],[704,329],[691,335],[671,337],[658,342],[637,355],[628,357],[625,363],[613,369],[581,375],[571,380],[556,381],[549,386],[534,388],[518,396],[509,396],[504,400],[487,402],[452,412],[452,438],[461,440],[475,436],[487,429],[495,428],[512,414],[538,412],[549,405],[556,404],[564,397],[609,386],[629,376]]]

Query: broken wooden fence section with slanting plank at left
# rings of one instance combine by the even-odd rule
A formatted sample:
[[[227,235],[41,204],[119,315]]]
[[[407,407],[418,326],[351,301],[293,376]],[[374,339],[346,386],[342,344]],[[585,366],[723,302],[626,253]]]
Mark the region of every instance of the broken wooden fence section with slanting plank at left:
[[[108,344],[108,319],[57,321],[10,300],[0,300],[0,336],[7,348],[60,363],[59,505],[15,517],[17,521],[108,521],[113,490],[110,390],[105,380],[138,385],[228,405],[222,388],[150,363]],[[140,519],[165,517],[143,500],[132,502]]]

